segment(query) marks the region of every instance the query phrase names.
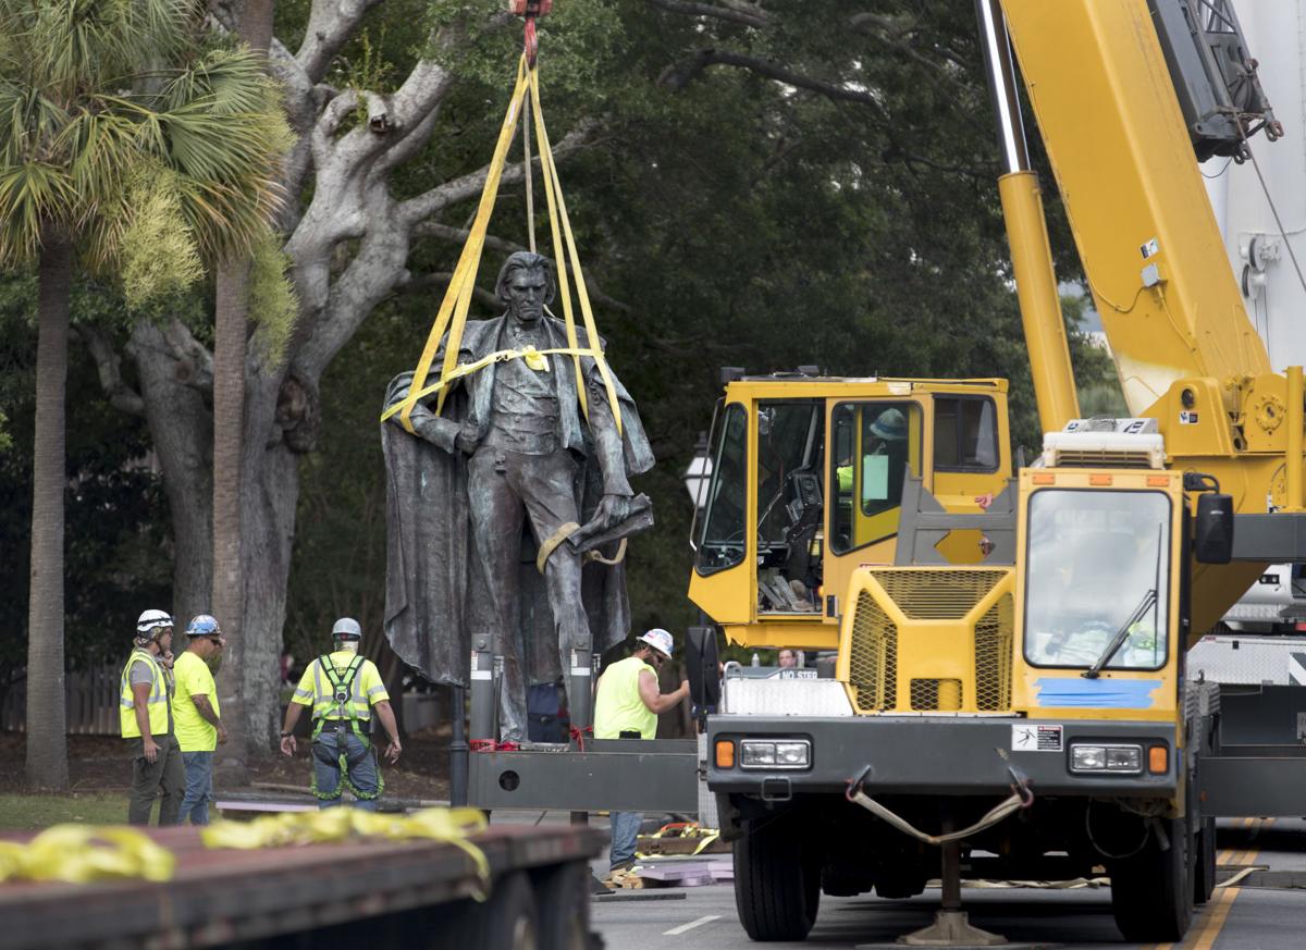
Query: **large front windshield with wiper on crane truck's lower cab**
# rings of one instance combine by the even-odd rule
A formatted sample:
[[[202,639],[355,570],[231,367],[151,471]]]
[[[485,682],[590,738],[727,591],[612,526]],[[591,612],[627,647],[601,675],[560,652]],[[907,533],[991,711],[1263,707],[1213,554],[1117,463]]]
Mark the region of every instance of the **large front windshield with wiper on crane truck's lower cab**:
[[[1170,501],[1160,492],[1043,489],[1029,501],[1025,658],[1041,667],[1089,667],[1115,633],[1128,636],[1107,669],[1165,664]]]

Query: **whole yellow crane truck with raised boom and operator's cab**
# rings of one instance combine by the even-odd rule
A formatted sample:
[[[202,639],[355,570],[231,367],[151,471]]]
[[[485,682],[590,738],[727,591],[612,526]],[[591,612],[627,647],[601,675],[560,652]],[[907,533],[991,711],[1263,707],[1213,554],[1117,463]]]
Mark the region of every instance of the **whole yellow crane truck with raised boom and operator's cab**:
[[[953,423],[976,452],[940,466],[940,407],[1000,411],[998,381],[727,385],[691,598],[744,643],[838,632],[832,676],[727,667],[708,719],[755,940],[803,938],[823,890],[919,893],[939,847],[943,911],[906,943],[995,942],[960,912],[963,873],[1098,868],[1126,938],[1177,941],[1215,883],[1212,816],[1297,813],[1306,789],[1301,756],[1221,757],[1218,689],[1186,675],[1264,564],[1306,560],[1302,372],[1271,372],[1198,170],[1279,134],[1255,61],[1215,0],[977,10],[1043,452],[1008,482],[1002,419],[986,471],[985,424]],[[1016,60],[1130,419],[1077,418]],[[888,463],[866,454],[880,403],[918,438]]]

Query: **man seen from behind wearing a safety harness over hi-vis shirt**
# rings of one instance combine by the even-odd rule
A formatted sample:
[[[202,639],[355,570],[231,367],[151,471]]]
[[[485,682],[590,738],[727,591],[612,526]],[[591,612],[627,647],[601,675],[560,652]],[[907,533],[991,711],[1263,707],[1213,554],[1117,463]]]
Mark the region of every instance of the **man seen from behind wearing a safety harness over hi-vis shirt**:
[[[304,706],[313,719],[312,792],[319,808],[341,804],[345,787],[354,793],[360,809],[375,812],[376,799],[385,787],[372,753],[372,711],[381,720],[390,744],[387,762],[397,762],[402,746],[394,723],[394,710],[381,673],[370,659],[358,655],[363,628],[353,617],[341,617],[332,628],[334,651],[319,656],[299,679],[299,686],[286,707],[281,727],[281,750],[295,754],[295,723]]]

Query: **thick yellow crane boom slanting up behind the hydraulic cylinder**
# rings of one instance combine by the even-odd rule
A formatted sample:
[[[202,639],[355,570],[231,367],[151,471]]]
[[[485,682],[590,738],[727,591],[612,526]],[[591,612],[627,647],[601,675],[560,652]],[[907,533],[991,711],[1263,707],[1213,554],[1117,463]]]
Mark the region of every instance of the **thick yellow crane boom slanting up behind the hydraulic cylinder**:
[[[1130,412],[1185,377],[1269,372],[1147,0],[1003,9]]]

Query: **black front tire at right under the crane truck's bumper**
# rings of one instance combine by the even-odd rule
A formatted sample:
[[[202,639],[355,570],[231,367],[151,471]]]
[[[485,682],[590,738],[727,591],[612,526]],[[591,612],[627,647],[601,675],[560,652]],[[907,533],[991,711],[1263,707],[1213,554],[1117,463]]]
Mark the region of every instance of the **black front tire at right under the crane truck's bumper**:
[[[1111,912],[1126,941],[1178,942],[1192,919],[1192,834],[1187,820],[1161,820],[1169,844],[1156,834],[1138,855],[1109,863]]]

